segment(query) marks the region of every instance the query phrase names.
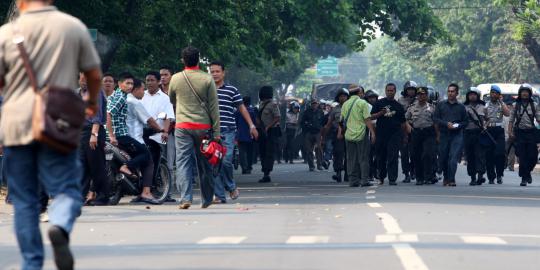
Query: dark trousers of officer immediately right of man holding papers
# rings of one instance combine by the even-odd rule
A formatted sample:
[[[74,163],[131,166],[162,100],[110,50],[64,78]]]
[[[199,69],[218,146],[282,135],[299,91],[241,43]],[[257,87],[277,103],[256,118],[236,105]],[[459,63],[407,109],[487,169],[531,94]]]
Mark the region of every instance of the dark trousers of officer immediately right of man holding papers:
[[[464,131],[463,142],[465,157],[467,158],[467,174],[477,176],[486,173],[486,150],[480,144],[480,129],[467,129]],[[483,136],[483,135],[482,135]]]

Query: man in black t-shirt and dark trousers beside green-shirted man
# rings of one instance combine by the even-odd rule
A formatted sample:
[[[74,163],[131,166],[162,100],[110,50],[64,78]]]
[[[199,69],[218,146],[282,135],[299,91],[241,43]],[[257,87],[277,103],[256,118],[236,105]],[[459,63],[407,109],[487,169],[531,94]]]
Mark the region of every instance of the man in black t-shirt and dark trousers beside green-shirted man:
[[[379,179],[381,184],[388,172],[389,184],[397,185],[398,152],[405,133],[405,110],[395,100],[396,85],[389,83],[385,87],[386,97],[378,100],[371,111],[371,118],[377,120],[376,144]]]

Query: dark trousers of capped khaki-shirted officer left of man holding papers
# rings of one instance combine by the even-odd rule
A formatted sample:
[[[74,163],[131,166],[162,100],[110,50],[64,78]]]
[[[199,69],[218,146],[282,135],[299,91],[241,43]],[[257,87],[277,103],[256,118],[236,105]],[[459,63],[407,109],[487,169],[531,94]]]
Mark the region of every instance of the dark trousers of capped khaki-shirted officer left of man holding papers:
[[[435,155],[435,129],[414,129],[411,135],[411,149],[416,181],[431,180],[433,174],[433,156]]]

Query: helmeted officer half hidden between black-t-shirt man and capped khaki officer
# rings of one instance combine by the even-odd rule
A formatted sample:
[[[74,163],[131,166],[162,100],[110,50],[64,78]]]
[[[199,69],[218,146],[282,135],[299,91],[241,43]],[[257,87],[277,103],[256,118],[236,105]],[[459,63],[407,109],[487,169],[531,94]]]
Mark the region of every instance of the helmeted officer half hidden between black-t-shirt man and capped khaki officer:
[[[417,87],[418,85],[414,81],[407,81],[405,85],[403,85],[403,92],[401,92],[401,97],[399,98],[398,102],[403,106],[404,111],[407,111],[409,106],[414,103],[416,99]],[[406,136],[406,138],[403,139],[403,143],[399,148],[399,154],[401,156],[401,170],[405,175],[403,183],[410,183],[411,179],[414,180],[415,176],[414,163],[411,155],[412,148],[409,143],[406,143],[410,141],[410,134],[404,134],[403,136]]]

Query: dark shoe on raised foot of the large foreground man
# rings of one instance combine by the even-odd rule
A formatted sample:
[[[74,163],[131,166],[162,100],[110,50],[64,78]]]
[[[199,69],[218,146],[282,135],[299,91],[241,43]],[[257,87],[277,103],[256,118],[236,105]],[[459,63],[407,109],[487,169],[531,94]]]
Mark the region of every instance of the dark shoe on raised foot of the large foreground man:
[[[53,225],[49,229],[49,239],[54,252],[54,262],[59,270],[73,269],[73,254],[69,249],[69,237],[62,228]]]

